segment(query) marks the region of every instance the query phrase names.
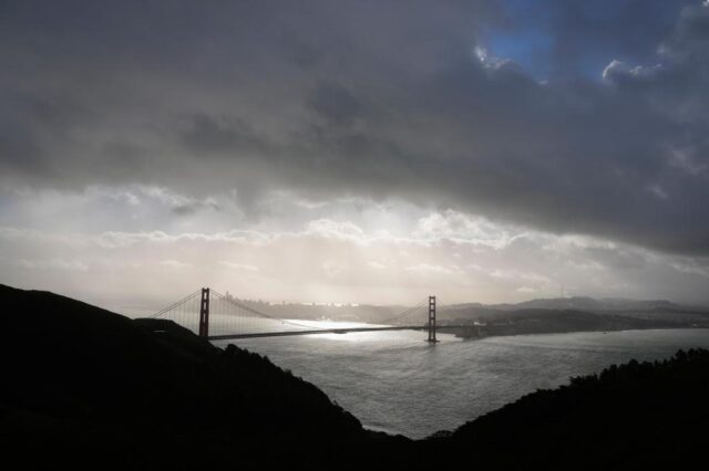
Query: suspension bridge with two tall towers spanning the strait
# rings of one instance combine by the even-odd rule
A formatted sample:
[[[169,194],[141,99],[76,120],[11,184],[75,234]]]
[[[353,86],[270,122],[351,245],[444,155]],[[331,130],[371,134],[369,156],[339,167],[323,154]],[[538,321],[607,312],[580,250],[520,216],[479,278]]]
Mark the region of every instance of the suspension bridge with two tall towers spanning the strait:
[[[151,317],[171,320],[208,341],[413,329],[427,332],[427,341],[436,343],[436,331],[469,327],[438,325],[435,296],[428,296],[412,307],[379,320],[376,325],[322,327],[311,321],[274,316],[209,287],[188,294]]]

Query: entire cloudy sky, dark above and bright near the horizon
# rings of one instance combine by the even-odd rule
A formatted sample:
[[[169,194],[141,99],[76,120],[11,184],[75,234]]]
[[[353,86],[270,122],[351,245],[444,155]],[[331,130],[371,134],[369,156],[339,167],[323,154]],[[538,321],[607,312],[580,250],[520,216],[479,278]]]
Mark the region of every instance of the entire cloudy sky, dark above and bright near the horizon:
[[[0,0],[0,283],[709,304],[709,2]]]

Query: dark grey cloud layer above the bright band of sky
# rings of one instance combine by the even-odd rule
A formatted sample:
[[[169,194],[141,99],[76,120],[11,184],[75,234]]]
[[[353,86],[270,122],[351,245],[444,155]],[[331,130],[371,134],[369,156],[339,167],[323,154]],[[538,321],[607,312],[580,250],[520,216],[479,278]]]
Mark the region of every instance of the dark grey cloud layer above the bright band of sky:
[[[709,254],[709,7],[538,2],[541,83],[482,52],[531,28],[514,3],[1,2],[2,185],[397,197]]]

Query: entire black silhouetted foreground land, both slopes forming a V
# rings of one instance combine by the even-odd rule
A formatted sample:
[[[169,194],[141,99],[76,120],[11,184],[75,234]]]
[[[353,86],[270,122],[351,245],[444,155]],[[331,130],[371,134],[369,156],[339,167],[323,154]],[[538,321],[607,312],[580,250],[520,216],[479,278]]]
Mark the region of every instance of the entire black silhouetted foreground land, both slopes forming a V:
[[[2,285],[0,305],[2,459],[24,464],[7,469],[706,467],[706,350],[575,378],[410,441],[368,432],[268,359],[171,322]]]

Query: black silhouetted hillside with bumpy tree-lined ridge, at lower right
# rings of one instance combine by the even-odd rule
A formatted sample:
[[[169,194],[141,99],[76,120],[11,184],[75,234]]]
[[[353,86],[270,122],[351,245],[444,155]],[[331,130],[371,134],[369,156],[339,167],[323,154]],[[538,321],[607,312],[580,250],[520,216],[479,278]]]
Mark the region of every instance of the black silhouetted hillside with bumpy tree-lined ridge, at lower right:
[[[425,446],[482,469],[677,470],[707,469],[708,439],[709,352],[691,349],[572,378]]]

